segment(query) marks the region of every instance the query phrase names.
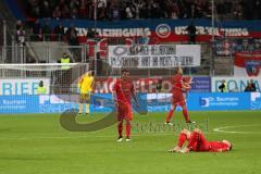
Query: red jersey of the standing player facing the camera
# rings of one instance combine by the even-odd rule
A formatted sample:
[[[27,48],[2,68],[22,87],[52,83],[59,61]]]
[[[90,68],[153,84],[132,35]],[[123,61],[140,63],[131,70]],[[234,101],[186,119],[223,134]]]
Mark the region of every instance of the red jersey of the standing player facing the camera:
[[[120,102],[130,103],[132,92],[134,92],[134,85],[132,80],[117,79],[113,86],[116,94],[116,100]]]

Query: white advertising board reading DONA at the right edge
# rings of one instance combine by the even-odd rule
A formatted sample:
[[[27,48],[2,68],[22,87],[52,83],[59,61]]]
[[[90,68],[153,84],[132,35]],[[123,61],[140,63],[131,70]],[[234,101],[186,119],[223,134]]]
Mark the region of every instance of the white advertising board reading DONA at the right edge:
[[[221,85],[222,80],[226,80],[226,89],[227,91],[244,91],[247,87],[247,83],[252,79],[257,91],[261,92],[261,78],[260,77],[212,77],[212,92],[217,92],[219,86]]]

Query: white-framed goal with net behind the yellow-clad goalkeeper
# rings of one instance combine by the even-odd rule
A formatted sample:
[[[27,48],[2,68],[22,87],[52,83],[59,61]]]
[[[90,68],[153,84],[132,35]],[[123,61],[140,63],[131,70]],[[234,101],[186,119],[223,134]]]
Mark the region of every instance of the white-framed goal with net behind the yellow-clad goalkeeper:
[[[21,90],[18,88],[23,88],[23,84],[16,84],[20,80],[24,83],[26,80],[34,82],[35,87],[37,83],[42,80],[48,95],[72,94],[77,90],[78,79],[88,70],[88,63],[0,64],[0,78],[2,82],[9,82],[5,84],[2,83],[1,95],[21,95],[15,92],[36,95],[35,91],[5,90],[8,89],[7,84],[11,84],[12,88],[16,88],[14,90]]]

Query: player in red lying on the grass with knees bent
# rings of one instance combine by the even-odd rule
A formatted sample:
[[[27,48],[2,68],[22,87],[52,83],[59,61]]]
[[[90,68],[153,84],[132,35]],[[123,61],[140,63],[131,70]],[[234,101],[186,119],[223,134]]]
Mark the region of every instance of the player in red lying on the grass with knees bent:
[[[186,140],[188,141],[188,144],[184,149],[182,149]],[[228,140],[208,141],[204,138],[203,133],[200,129],[195,128],[192,132],[183,129],[179,134],[177,146],[174,149],[169,150],[169,152],[223,152],[231,150],[232,144]]]

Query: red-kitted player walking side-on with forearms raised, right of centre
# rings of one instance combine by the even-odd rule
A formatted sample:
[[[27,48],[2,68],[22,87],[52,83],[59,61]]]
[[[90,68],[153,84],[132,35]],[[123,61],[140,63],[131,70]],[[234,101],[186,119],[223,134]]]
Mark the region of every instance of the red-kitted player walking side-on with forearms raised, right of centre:
[[[172,88],[172,108],[169,111],[169,114],[165,120],[165,124],[173,125],[170,123],[172,119],[172,114],[176,110],[177,105],[181,105],[183,109],[183,115],[186,120],[186,123],[195,123],[189,120],[187,107],[186,107],[186,99],[184,97],[184,92],[190,89],[190,83],[186,83],[183,79],[183,70],[181,67],[176,69],[176,75],[174,75],[173,79],[173,88]]]

